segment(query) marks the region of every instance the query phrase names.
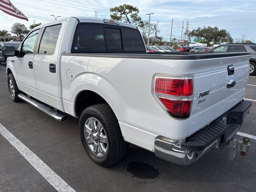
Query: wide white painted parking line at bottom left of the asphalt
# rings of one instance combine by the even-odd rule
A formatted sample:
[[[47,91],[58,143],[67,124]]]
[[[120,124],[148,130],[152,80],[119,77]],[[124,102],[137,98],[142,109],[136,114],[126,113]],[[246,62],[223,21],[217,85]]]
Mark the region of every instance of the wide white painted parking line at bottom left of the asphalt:
[[[58,191],[75,192],[60,176],[50,169],[36,154],[30,151],[20,140],[0,124],[0,134],[14,146],[26,160]]]

